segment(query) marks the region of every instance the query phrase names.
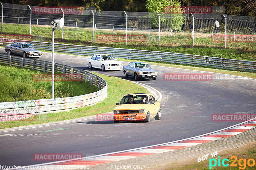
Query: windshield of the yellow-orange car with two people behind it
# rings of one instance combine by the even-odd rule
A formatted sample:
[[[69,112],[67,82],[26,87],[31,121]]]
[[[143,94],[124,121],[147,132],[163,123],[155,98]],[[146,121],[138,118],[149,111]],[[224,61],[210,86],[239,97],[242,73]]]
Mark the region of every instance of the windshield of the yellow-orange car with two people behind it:
[[[141,104],[148,103],[148,96],[128,95],[128,96],[124,96],[120,102],[120,104],[135,104],[135,103],[141,103]]]

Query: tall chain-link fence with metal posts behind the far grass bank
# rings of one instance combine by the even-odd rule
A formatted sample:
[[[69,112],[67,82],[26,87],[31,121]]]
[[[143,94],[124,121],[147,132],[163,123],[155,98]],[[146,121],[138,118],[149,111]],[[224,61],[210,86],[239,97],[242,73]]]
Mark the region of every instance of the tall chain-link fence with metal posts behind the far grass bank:
[[[56,41],[119,43],[170,46],[236,46],[256,42],[253,17],[216,13],[184,14],[163,12],[95,11],[85,7],[36,7],[1,3],[1,33],[33,36],[34,41],[51,41],[52,21],[65,18]],[[216,30],[215,22],[219,22]],[[19,25],[22,25],[20,27]],[[40,26],[39,26],[40,25]],[[43,32],[45,27],[49,31]],[[1,36],[1,38],[2,38]]]

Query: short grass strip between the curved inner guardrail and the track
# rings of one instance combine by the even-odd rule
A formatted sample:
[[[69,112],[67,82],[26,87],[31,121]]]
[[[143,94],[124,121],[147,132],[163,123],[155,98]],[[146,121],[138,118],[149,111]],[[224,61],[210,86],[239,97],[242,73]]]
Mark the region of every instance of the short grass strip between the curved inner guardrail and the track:
[[[97,74],[97,73],[93,73]],[[97,74],[108,82],[108,97],[96,105],[89,107],[81,107],[71,111],[62,111],[58,113],[46,113],[36,115],[35,121],[6,121],[0,122],[0,129],[42,124],[49,122],[57,122],[61,120],[74,119],[79,117],[92,116],[100,113],[113,111],[115,103],[121,100],[121,97],[130,93],[149,93],[144,87],[134,84],[131,81],[126,81],[117,77],[109,77],[106,75]]]

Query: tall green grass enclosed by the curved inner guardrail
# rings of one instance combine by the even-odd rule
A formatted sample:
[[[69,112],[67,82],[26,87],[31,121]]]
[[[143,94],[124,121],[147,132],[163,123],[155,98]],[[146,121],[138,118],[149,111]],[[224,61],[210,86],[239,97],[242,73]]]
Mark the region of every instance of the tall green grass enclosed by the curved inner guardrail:
[[[29,68],[0,64],[0,102],[15,102],[52,98],[51,81],[34,81],[33,75],[51,74]],[[57,72],[56,72],[57,74]],[[58,73],[60,74],[60,73]],[[55,81],[55,98],[72,97],[99,89],[84,81]]]

